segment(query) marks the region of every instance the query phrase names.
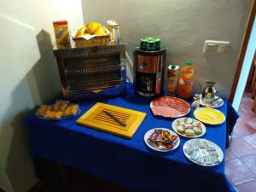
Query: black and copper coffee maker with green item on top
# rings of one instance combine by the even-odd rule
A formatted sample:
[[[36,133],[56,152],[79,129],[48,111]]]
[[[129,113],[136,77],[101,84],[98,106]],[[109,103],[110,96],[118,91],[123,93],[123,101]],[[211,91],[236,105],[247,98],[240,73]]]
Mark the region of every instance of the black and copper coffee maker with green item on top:
[[[135,92],[139,96],[163,94],[166,49],[160,48],[160,38],[143,38],[134,50]]]

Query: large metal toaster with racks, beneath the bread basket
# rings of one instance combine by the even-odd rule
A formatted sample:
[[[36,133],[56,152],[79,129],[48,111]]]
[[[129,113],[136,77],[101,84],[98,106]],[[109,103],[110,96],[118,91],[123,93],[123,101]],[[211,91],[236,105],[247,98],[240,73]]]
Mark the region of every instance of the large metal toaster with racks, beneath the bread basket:
[[[125,44],[54,49],[63,95],[76,98],[94,90],[125,86]]]

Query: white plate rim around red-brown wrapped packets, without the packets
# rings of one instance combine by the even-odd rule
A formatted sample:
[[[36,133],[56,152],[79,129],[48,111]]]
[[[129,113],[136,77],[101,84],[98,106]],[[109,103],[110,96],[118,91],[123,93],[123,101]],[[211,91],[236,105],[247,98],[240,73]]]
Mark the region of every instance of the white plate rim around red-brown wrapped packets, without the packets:
[[[172,133],[172,135],[177,136],[176,132],[166,129],[166,128],[154,128],[152,130],[149,130],[148,132],[146,132],[146,134],[144,135],[144,142],[148,145],[149,148],[152,148],[155,151],[160,151],[160,152],[168,152],[168,151],[172,151],[175,148],[177,148],[179,146],[180,143],[180,139],[177,136],[177,141],[174,143],[174,147],[173,148],[155,148],[153,144],[148,142],[148,137],[154,133],[154,130],[163,130],[163,131],[169,131],[170,133]]]

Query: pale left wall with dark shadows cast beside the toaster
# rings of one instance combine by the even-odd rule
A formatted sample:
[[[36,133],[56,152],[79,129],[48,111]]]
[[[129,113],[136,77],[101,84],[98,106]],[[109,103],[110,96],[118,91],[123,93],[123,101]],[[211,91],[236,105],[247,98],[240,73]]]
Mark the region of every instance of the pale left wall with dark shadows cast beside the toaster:
[[[0,1],[0,186],[26,192],[37,179],[23,120],[61,93],[53,20],[83,24],[80,0]]]

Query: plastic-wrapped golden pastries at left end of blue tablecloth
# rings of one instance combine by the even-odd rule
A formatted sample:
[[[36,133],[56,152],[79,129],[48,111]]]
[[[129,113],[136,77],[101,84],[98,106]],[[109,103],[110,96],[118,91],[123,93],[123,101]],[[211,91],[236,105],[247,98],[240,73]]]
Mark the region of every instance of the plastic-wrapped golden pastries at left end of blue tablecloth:
[[[57,100],[54,105],[42,104],[38,108],[36,116],[39,119],[58,120],[72,118],[78,113],[78,104],[69,103],[65,100]]]

